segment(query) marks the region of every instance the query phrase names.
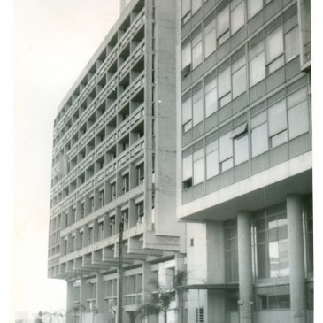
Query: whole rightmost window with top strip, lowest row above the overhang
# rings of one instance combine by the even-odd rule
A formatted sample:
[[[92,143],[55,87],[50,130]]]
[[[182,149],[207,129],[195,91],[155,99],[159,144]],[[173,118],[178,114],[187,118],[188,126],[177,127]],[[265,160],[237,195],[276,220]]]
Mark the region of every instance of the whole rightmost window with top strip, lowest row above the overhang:
[[[289,139],[307,133],[310,129],[306,88],[297,90],[287,98]]]

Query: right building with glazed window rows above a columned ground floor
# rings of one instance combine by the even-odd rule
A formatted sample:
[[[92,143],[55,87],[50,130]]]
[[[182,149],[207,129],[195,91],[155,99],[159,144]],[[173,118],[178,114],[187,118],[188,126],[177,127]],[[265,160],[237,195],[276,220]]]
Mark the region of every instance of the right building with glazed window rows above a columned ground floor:
[[[188,322],[311,322],[310,1],[178,12]]]

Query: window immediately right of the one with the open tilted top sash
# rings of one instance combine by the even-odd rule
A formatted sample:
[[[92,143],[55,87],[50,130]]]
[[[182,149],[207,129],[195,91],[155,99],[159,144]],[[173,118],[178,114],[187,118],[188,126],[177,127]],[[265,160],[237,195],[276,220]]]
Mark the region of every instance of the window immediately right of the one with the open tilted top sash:
[[[256,157],[268,150],[268,127],[266,112],[251,119],[251,154]]]

